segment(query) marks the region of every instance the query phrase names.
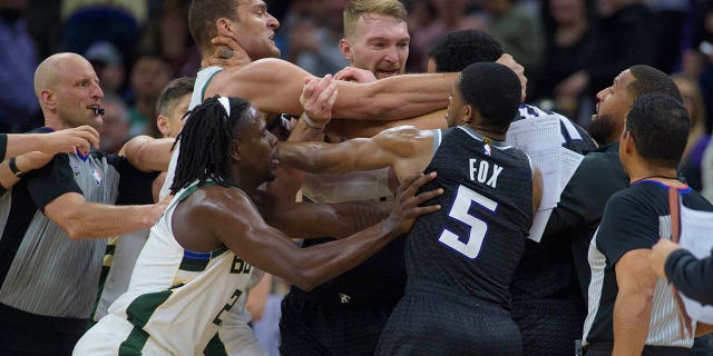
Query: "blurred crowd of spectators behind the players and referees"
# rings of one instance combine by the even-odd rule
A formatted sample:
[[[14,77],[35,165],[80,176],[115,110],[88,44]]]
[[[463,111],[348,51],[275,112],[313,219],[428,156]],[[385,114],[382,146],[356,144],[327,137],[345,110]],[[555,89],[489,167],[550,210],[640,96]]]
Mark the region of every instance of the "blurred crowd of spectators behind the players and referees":
[[[348,0],[265,0],[281,27],[282,57],[314,75],[346,66],[338,43]],[[587,126],[595,95],[633,63],[676,73],[696,120],[691,149],[711,132],[713,1],[403,0],[411,33],[409,72],[449,30],[485,29],[525,66],[528,102]],[[199,56],[187,27],[189,0],[0,0],[0,131],[42,125],[32,89],[37,63],[84,55],[107,93],[102,148],[158,136],[155,101],[173,78],[195,76]],[[702,142],[700,142],[702,144]]]

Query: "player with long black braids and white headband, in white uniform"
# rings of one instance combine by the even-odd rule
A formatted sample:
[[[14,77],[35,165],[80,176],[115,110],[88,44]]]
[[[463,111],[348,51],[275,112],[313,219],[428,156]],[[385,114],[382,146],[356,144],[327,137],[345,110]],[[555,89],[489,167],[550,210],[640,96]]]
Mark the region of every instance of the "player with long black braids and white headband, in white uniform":
[[[309,290],[439,208],[419,205],[440,190],[416,195],[434,175],[406,179],[389,217],[368,228],[355,221],[354,204],[267,199],[257,187],[272,177],[277,140],[263,116],[240,98],[207,99],[180,135],[175,198],[152,229],[129,290],[80,339],[75,355],[263,355],[248,328],[229,335],[219,327],[231,309],[244,308],[262,270]],[[292,237],[341,239],[299,248],[268,222]],[[174,323],[177,318],[182,322]]]

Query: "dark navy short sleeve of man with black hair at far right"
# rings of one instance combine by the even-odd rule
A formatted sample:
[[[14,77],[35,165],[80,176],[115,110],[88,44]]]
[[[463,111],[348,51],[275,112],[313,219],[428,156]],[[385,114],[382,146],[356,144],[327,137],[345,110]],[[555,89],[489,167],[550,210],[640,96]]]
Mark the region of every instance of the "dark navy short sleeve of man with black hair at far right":
[[[628,192],[622,191],[609,199],[597,233],[597,248],[611,266],[616,265],[624,254],[651,248],[658,240],[656,214]]]

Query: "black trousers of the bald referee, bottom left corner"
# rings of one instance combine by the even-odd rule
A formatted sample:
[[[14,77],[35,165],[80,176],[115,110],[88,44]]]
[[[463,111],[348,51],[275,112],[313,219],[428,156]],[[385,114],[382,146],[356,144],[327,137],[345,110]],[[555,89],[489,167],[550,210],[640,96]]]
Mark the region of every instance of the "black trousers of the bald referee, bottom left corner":
[[[0,304],[0,356],[70,356],[87,319],[36,315]]]

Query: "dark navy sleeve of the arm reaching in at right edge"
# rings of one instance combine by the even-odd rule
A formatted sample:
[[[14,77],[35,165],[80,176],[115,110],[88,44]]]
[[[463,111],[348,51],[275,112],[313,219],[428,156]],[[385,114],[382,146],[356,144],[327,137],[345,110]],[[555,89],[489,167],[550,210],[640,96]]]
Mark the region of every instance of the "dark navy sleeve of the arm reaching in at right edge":
[[[713,256],[697,259],[690,251],[677,249],[666,258],[664,270],[668,281],[686,297],[713,305]]]

